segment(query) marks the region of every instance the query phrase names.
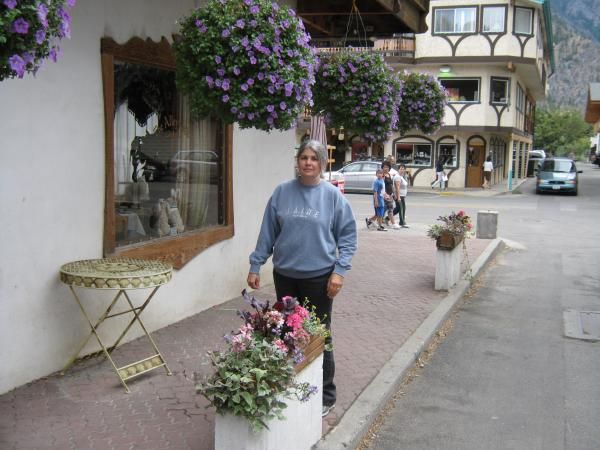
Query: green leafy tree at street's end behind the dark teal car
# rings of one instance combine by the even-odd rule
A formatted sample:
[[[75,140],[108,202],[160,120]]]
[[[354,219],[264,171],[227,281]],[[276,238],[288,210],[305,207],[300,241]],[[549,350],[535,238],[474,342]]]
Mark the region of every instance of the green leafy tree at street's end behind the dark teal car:
[[[543,148],[555,156],[584,157],[590,150],[592,126],[580,112],[564,108],[540,108],[535,114],[534,148]]]

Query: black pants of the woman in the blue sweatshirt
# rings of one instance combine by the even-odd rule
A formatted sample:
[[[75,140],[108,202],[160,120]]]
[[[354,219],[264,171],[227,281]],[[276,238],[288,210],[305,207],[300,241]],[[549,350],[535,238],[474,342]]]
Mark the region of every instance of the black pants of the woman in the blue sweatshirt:
[[[333,309],[333,299],[327,296],[327,281],[330,274],[322,275],[316,278],[289,278],[273,271],[273,281],[275,282],[275,293],[278,299],[286,295],[297,297],[299,302],[308,299],[309,306],[314,305],[317,317],[321,319],[328,329],[331,327],[331,311]],[[329,337],[325,343],[331,343]],[[323,404],[333,405],[336,399],[335,384],[333,376],[335,375],[335,362],[333,361],[333,351],[323,353]]]

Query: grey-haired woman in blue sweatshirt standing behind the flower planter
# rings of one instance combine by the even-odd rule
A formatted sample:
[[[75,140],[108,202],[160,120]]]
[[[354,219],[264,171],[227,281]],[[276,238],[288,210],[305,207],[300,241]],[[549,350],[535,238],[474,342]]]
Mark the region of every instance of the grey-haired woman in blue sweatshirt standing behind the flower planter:
[[[248,286],[260,288],[260,267],[273,255],[275,293],[308,299],[329,328],[333,299],[342,289],[356,251],[356,222],[337,187],[322,179],[327,150],[319,141],[300,145],[298,178],[275,188],[267,203]],[[323,355],[323,416],[335,406],[333,352]]]

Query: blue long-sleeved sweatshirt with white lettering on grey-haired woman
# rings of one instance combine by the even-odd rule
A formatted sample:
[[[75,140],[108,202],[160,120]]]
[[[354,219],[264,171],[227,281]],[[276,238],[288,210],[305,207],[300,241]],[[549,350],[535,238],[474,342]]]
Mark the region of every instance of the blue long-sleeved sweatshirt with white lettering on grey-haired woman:
[[[337,187],[291,180],[275,188],[263,216],[250,272],[259,273],[273,255],[275,270],[305,279],[332,270],[344,276],[356,251],[352,208]]]

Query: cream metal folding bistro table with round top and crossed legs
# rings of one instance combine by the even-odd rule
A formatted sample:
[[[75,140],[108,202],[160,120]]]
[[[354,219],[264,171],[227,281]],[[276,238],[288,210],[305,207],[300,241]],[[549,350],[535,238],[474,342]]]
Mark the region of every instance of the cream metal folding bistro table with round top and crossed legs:
[[[60,268],[60,281],[69,286],[69,289],[73,293],[79,308],[81,308],[81,312],[87,319],[91,328],[87,338],[83,341],[77,352],[63,368],[63,372],[73,365],[73,363],[78,359],[81,350],[83,350],[92,335],[94,335],[100,344],[100,347],[102,347],[102,350],[87,355],[86,357],[98,356],[104,353],[106,358],[112,364],[115,372],[117,372],[121,383],[123,386],[125,386],[125,390],[128,393],[130,391],[126,381],[137,377],[138,375],[158,369],[159,367],[164,367],[167,371],[167,375],[171,375],[171,371],[169,370],[165,359],[158,350],[158,347],[150,336],[150,333],[148,333],[148,330],[146,330],[146,327],[140,319],[140,315],[146,306],[148,306],[148,303],[150,303],[150,300],[152,300],[152,297],[154,297],[154,294],[156,294],[158,288],[171,280],[172,271],[173,268],[169,264],[165,264],[160,261],[129,258],[88,259],[83,261],[74,261],[63,265]],[[77,296],[75,288],[117,290],[118,292],[108,308],[106,308],[106,311],[104,311],[100,318],[93,323],[89,314],[85,310],[83,303]],[[152,289],[141,306],[133,306],[133,302],[127,294],[127,291],[134,289]],[[127,302],[129,308],[125,311],[112,313],[113,308],[120,298],[123,298],[124,301]],[[127,313],[132,313],[133,318],[125,327],[115,343],[107,347],[102,342],[102,339],[98,334],[98,327],[107,319],[118,317]],[[122,367],[117,367],[115,361],[111,357],[111,353],[121,343],[135,322],[142,327],[142,330],[144,330],[146,337],[152,344],[152,347],[154,347],[154,351],[156,353],[140,361],[136,361]]]

